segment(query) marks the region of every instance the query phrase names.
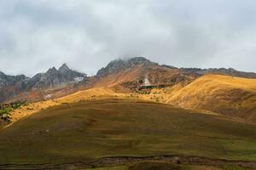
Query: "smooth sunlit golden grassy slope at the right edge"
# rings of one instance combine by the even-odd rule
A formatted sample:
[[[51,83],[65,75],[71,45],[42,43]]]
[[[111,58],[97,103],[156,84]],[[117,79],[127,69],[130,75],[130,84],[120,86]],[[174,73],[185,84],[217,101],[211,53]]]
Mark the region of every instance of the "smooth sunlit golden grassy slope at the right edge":
[[[206,75],[170,95],[166,102],[256,122],[256,80]]]

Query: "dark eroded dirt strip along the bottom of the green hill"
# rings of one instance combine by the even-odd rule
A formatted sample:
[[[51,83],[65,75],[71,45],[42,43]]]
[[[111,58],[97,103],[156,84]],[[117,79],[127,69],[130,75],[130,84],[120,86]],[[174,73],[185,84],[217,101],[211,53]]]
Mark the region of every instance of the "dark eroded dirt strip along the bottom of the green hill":
[[[103,157],[96,161],[84,162],[69,162],[63,164],[5,164],[0,165],[0,169],[77,169],[90,167],[113,167],[122,165],[131,165],[142,161],[161,161],[177,164],[188,165],[205,165],[213,167],[224,167],[225,165],[232,165],[238,167],[245,167],[249,169],[256,169],[256,161],[229,161],[222,159],[209,159],[198,156],[145,156],[145,157],[131,157],[131,156],[116,156]]]

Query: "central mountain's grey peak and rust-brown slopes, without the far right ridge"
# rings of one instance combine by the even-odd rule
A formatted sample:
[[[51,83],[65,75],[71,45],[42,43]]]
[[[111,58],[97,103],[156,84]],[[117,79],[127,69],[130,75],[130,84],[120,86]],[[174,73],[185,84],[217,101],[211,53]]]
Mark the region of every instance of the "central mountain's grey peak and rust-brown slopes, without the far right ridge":
[[[196,75],[175,67],[158,65],[143,57],[117,59],[98,71],[94,87],[126,88],[136,92],[143,87],[173,86],[177,82],[190,82]],[[147,83],[145,83],[147,82]]]

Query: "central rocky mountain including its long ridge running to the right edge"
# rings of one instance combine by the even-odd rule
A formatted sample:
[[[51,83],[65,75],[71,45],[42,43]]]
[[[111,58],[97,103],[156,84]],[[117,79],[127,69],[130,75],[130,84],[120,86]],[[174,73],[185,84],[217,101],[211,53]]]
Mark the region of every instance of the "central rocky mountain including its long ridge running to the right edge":
[[[199,69],[177,68],[171,65],[158,65],[143,57],[132,59],[115,59],[106,67],[97,72],[90,84],[91,87],[110,86],[117,88],[129,88],[137,91],[138,88],[147,87],[172,87],[182,82],[189,84],[198,77],[215,74],[230,77],[256,78],[256,73],[236,71],[234,69]],[[95,79],[96,78],[96,79]],[[147,82],[147,86],[145,85]]]

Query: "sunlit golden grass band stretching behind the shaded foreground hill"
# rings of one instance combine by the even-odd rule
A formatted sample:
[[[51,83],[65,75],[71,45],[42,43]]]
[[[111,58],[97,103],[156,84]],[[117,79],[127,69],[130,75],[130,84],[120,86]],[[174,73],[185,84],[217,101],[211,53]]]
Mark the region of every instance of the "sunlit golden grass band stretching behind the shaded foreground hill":
[[[135,71],[137,72],[137,71]],[[206,75],[189,85],[182,83],[171,88],[152,89],[150,94],[119,94],[113,87],[119,87],[125,79],[135,78],[135,72],[124,72],[112,82],[110,77],[99,82],[97,88],[79,91],[58,99],[31,103],[12,113],[12,122],[63,103],[76,103],[87,99],[130,98],[142,99],[183,107],[204,114],[217,113],[240,117],[247,122],[256,122],[256,80],[219,75]]]

